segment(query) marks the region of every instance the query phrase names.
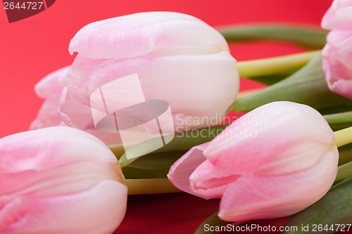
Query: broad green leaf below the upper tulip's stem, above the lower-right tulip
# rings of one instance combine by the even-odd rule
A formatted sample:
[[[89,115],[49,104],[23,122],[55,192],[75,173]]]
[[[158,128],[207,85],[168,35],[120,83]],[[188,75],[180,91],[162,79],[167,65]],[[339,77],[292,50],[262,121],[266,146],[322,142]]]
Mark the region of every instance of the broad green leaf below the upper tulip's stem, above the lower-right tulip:
[[[313,57],[307,65],[287,79],[234,103],[230,110],[249,112],[261,105],[279,100],[310,105],[322,115],[332,111],[352,110],[352,100],[332,93],[322,72],[322,56]]]

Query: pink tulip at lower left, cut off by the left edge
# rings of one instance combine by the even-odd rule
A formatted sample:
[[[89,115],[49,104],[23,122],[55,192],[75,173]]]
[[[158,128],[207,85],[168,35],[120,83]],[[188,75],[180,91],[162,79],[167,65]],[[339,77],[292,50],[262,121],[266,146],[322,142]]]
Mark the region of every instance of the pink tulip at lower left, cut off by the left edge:
[[[0,139],[1,234],[111,234],[125,216],[118,161],[68,126]]]

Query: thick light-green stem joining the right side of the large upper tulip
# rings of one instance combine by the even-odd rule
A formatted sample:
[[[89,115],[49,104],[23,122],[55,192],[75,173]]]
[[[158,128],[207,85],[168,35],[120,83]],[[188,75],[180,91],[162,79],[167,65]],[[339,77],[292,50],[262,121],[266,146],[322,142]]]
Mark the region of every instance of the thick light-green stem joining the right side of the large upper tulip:
[[[237,63],[237,70],[239,77],[262,77],[273,74],[284,74],[285,72],[298,70],[306,65],[310,58],[320,53],[321,50],[318,50],[296,53],[289,56],[243,61]]]

